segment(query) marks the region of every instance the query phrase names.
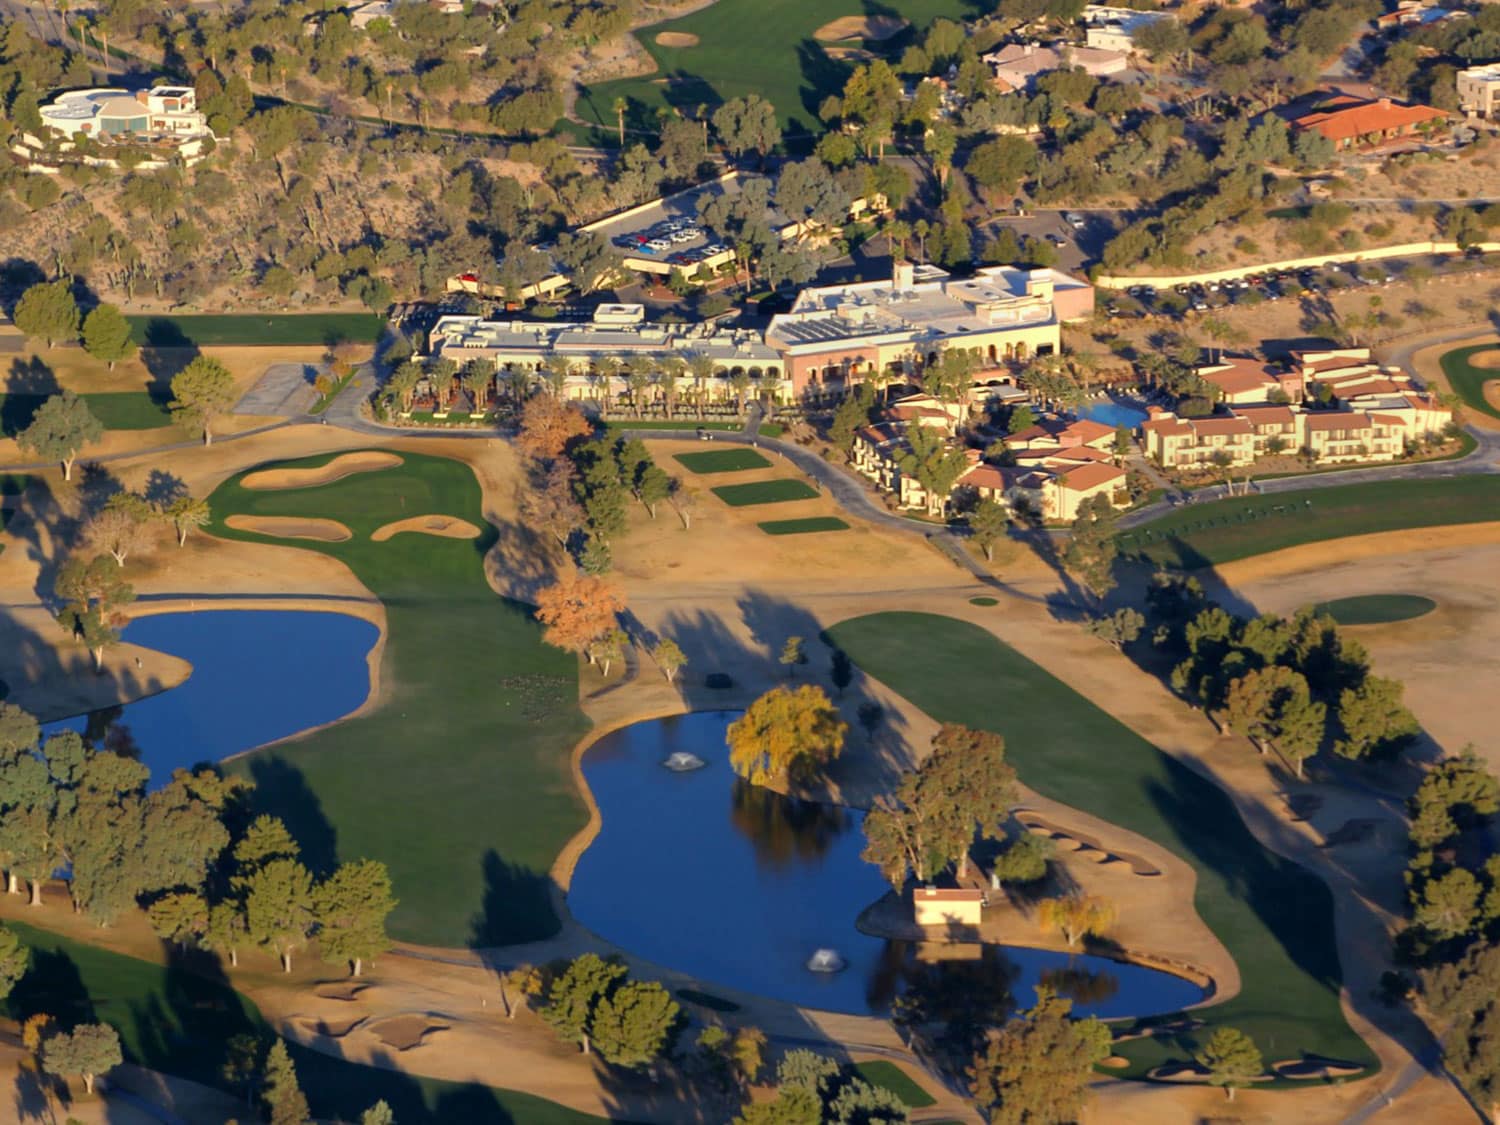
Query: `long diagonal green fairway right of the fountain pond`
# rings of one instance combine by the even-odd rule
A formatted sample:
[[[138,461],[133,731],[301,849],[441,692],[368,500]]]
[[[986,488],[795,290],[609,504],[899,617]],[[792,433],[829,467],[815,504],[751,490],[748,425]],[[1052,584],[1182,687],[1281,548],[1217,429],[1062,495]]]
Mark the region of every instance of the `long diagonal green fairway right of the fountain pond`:
[[[978,626],[873,614],[828,636],[933,718],[1004,735],[1032,789],[1155,840],[1197,872],[1194,906],[1234,957],[1240,992],[1194,1011],[1202,1030],[1116,1044],[1131,1066],[1112,1074],[1142,1077],[1182,1059],[1216,1026],[1251,1035],[1268,1062],[1308,1053],[1377,1065],[1340,1010],[1328,886],[1263,848],[1216,784]]]

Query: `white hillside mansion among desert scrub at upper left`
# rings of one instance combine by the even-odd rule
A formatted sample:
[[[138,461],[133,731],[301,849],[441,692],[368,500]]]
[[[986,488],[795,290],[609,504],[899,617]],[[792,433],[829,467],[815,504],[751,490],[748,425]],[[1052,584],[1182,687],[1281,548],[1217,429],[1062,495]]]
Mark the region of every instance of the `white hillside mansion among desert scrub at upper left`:
[[[33,171],[56,171],[64,164],[104,168],[194,165],[213,150],[213,130],[190,86],[66,90],[39,112],[39,135],[22,132],[12,146]]]

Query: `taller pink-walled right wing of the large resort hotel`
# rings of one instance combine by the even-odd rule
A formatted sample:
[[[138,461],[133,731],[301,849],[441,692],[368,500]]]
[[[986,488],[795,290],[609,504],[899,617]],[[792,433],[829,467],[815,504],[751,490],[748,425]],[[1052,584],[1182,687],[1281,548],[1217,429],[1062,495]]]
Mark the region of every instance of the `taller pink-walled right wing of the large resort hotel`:
[[[796,396],[910,381],[944,348],[986,366],[1047,356],[1064,321],[1094,312],[1094,286],[1058,270],[993,266],[960,280],[936,266],[897,262],[894,273],[802,290],[790,312],[771,318],[765,340]]]

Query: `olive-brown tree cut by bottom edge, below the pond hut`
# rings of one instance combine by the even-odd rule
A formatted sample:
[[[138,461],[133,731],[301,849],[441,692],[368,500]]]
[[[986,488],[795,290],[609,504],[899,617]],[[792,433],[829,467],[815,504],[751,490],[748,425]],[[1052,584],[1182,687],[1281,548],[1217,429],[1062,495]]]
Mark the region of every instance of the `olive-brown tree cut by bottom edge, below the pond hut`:
[[[1108,1058],[1110,1029],[1070,1018],[1072,1000],[1036,988],[1036,1004],[1006,1022],[969,1068],[975,1104],[992,1125],[1077,1120],[1094,1066]]]

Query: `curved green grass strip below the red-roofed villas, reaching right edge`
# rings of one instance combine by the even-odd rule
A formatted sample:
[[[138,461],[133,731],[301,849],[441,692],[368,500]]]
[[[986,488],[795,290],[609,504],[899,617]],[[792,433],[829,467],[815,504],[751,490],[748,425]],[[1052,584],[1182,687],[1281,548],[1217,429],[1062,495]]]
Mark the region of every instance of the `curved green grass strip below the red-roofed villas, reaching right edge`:
[[[1500,476],[1382,480],[1191,504],[1120,532],[1120,552],[1206,567],[1377,531],[1500,519]]]

